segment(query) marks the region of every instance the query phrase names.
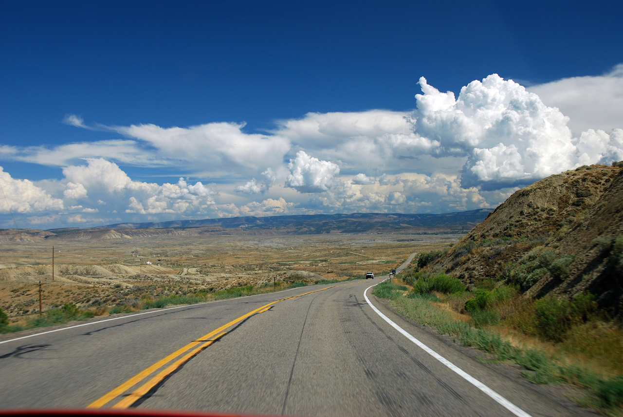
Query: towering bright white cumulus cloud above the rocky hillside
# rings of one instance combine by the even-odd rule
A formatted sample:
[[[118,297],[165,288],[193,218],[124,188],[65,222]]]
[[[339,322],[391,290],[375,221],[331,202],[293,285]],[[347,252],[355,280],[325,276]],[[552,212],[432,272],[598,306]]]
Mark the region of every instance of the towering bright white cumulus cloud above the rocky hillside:
[[[535,93],[493,74],[460,91],[441,93],[426,78],[416,95],[414,133],[439,141],[437,155],[467,156],[464,187],[488,189],[528,184],[578,164],[607,163],[621,157],[621,129],[592,131],[596,146],[573,138],[569,118]]]

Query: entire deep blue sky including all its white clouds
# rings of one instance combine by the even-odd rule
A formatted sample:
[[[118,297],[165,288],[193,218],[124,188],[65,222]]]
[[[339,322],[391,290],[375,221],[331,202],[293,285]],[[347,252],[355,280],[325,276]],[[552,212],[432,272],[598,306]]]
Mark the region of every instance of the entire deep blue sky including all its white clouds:
[[[623,159],[621,17],[612,1],[2,2],[0,227],[495,207]]]

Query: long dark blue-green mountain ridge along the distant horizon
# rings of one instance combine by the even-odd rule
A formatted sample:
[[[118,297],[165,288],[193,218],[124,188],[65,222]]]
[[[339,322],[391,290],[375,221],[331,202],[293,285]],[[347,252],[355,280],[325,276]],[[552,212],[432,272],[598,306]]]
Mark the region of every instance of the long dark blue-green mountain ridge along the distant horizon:
[[[169,222],[117,223],[93,228],[0,230],[0,241],[54,239],[110,240],[166,235],[277,235],[323,233],[467,233],[492,212],[480,208],[454,213],[351,213],[227,217]]]

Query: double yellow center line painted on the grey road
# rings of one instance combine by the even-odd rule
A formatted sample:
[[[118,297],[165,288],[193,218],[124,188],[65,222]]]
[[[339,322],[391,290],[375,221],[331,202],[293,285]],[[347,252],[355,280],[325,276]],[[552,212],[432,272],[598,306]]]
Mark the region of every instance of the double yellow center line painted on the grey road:
[[[363,282],[363,281],[359,281],[359,282]],[[340,284],[340,285],[347,285],[347,284],[352,284],[352,282],[349,282],[346,284]],[[115,403],[115,405],[112,406],[112,408],[128,408],[131,405],[133,405],[137,400],[139,400],[141,397],[143,397],[146,393],[148,393],[152,388],[156,387],[156,385],[162,382],[164,378],[168,377],[168,375],[171,375],[171,373],[175,372],[176,369],[184,365],[184,363],[188,362],[188,360],[190,360],[190,358],[192,358],[194,355],[201,352],[201,350],[206,349],[206,347],[216,342],[216,340],[221,338],[223,335],[227,334],[226,330],[232,326],[235,326],[235,324],[238,324],[239,322],[243,321],[244,319],[247,319],[250,316],[253,316],[254,314],[259,314],[259,313],[267,311],[268,309],[270,309],[270,306],[272,306],[273,304],[276,304],[279,301],[306,296],[307,294],[317,293],[318,291],[324,291],[325,289],[334,288],[336,286],[337,285],[332,285],[330,287],[316,289],[315,291],[310,291],[308,293],[300,294],[298,296],[278,299],[277,301],[269,302],[269,304],[265,304],[264,306],[259,307],[255,309],[254,311],[248,312],[247,314],[244,314],[243,316],[240,316],[237,319],[234,319],[231,322],[224,324],[218,329],[212,330],[211,332],[204,335],[203,337],[197,340],[193,340],[193,342],[190,342],[188,345],[184,346],[183,348],[176,350],[171,355],[168,355],[167,357],[162,358],[161,360],[154,363],[150,367],[137,373],[134,377],[122,383],[114,390],[102,396],[102,398],[99,398],[98,400],[93,401],[87,406],[87,408],[103,407],[104,405],[114,400],[118,396],[123,395],[123,393],[130,390],[130,388],[133,388],[139,383],[143,382],[143,380],[146,380],[146,378],[148,378],[152,373],[158,371],[161,368],[164,368],[160,372],[156,373],[156,375],[154,375],[150,380],[143,383],[143,385],[140,385],[140,387],[131,391],[131,393],[123,396],[123,398],[120,401],[118,401],[117,403]],[[171,361],[174,361],[174,362],[171,363],[168,367],[165,367],[165,365],[167,365]]]

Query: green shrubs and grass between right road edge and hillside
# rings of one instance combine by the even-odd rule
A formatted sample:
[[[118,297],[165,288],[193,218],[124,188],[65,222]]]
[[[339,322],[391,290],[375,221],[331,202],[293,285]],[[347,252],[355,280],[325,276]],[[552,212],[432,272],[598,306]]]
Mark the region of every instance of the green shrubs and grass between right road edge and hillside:
[[[615,245],[618,241],[612,240]],[[612,252],[618,261],[618,246]],[[543,250],[529,253],[507,265],[499,279],[465,286],[445,273],[422,269],[445,255],[447,251],[422,253],[414,268],[392,283],[379,284],[373,294],[412,321],[489,352],[495,361],[517,363],[533,383],[585,388],[587,395],[578,403],[623,415],[621,320],[601,311],[590,293],[571,299],[523,294],[531,274],[564,274],[568,259]]]

